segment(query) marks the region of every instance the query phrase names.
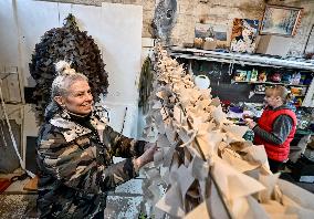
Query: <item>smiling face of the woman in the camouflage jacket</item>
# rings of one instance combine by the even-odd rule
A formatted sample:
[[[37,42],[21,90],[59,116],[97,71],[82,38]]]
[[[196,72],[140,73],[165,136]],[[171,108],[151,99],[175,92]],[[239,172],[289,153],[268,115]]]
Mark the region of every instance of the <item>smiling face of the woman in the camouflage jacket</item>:
[[[67,88],[67,94],[60,96],[56,102],[71,113],[87,115],[92,112],[93,107],[91,87],[86,81],[75,81]]]

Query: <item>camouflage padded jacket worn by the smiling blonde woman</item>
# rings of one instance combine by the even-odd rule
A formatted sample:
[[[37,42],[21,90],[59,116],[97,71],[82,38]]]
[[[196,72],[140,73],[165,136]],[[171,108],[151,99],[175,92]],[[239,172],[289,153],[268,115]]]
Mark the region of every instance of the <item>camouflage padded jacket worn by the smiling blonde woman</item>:
[[[124,137],[96,115],[91,115],[86,124],[90,126],[60,112],[40,129],[41,218],[93,218],[105,208],[108,190],[138,174],[133,157],[143,154],[145,142]],[[113,156],[127,159],[113,164]]]

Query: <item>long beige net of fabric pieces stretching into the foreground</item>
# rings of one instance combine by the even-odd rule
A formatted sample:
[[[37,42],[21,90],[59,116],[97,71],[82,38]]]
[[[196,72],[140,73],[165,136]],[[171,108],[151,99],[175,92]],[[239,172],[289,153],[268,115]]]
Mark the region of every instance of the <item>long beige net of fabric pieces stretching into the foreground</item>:
[[[227,119],[210,88],[196,87],[160,45],[156,55],[145,129],[159,147],[146,171],[156,209],[179,218],[311,218],[314,196],[273,175],[264,147],[242,138],[248,128]]]

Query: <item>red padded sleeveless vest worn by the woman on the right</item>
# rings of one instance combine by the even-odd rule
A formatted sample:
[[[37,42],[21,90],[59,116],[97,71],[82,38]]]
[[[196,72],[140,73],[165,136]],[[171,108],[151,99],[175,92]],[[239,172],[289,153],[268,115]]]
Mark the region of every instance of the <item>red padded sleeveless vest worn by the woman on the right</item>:
[[[268,157],[273,160],[284,161],[287,159],[289,152],[290,152],[290,143],[294,137],[295,129],[296,129],[296,116],[295,114],[287,108],[273,111],[270,108],[265,108],[261,118],[259,119],[259,126],[271,133],[273,131],[273,123],[280,115],[289,115],[293,119],[293,126],[287,135],[287,138],[281,145],[275,145],[262,139],[260,136],[254,136],[254,144],[255,145],[264,145]]]

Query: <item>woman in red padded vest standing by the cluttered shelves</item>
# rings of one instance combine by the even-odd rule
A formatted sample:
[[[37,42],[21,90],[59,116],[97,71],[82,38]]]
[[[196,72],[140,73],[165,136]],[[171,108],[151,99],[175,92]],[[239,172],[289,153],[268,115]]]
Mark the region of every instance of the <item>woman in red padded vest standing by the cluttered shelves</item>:
[[[291,97],[284,86],[270,87],[265,92],[266,107],[262,116],[245,119],[254,132],[254,144],[264,145],[273,173],[279,171],[287,160],[290,143],[296,129],[295,113],[286,105]]]

